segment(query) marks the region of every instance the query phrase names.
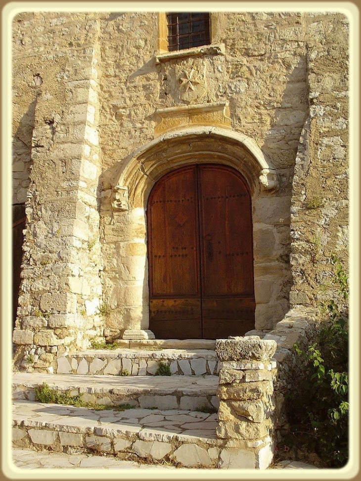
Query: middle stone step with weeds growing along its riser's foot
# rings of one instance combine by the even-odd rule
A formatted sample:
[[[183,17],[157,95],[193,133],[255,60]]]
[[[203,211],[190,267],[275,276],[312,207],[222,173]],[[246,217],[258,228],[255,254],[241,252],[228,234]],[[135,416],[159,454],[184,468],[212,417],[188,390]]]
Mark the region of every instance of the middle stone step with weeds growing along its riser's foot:
[[[107,376],[78,374],[14,373],[13,398],[35,400],[35,387],[71,395],[83,394],[91,404],[129,403],[140,408],[191,409],[219,407],[218,376]]]

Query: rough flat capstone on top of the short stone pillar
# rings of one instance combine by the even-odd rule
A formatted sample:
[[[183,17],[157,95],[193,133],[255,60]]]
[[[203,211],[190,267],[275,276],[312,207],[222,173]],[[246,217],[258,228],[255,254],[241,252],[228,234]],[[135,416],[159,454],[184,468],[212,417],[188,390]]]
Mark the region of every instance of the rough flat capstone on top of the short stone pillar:
[[[235,337],[218,339],[216,352],[221,361],[243,361],[245,359],[267,360],[272,357],[277,344],[274,341]]]

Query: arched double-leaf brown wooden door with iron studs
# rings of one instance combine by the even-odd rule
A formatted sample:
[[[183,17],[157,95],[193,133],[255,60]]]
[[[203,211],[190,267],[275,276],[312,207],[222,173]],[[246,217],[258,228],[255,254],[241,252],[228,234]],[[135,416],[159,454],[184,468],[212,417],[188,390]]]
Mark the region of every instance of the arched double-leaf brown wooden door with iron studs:
[[[222,339],[254,329],[251,196],[236,170],[173,171],[147,203],[149,329],[158,339]]]

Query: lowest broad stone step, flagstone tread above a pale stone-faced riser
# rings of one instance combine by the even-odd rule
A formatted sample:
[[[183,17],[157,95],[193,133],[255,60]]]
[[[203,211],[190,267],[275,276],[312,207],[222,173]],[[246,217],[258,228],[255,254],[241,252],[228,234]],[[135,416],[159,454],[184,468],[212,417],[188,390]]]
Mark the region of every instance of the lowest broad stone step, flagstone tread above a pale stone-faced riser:
[[[191,410],[95,411],[20,400],[13,405],[12,437],[20,449],[93,452],[188,468],[267,467],[261,441],[245,441],[247,451],[233,452],[216,437],[216,425],[217,414]]]

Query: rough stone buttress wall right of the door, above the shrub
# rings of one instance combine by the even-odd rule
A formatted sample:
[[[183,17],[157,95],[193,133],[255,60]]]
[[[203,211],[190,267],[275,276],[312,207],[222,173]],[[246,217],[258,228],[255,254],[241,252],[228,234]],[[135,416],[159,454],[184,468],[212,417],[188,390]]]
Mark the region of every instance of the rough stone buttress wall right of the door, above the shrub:
[[[320,287],[332,276],[332,253],[348,269],[348,20],[310,15],[306,35],[310,116],[293,178],[290,258],[290,303],[304,306],[329,298]]]

